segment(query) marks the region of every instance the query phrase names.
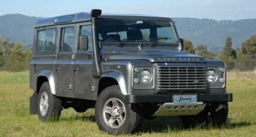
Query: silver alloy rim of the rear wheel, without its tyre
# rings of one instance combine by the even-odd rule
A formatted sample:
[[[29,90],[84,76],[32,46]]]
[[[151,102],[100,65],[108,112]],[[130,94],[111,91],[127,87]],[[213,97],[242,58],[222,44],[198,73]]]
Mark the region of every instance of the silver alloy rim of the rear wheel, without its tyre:
[[[46,91],[44,91],[41,95],[40,103],[39,103],[40,113],[42,116],[45,116],[47,114],[48,107],[49,107],[48,102],[49,102],[48,94]]]

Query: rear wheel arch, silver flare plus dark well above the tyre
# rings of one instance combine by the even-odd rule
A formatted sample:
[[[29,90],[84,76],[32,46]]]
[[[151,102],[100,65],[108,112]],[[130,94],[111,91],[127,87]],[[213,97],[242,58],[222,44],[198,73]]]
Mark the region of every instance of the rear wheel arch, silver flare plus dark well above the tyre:
[[[43,70],[39,73],[36,80],[36,92],[38,92],[41,88],[41,85],[48,81],[50,88],[51,88],[51,94],[56,95],[56,87],[55,87],[55,81],[53,73],[50,70]]]

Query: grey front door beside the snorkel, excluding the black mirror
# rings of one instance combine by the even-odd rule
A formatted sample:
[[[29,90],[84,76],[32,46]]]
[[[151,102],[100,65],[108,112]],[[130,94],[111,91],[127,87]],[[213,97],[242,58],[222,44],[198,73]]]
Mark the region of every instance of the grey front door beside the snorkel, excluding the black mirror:
[[[75,60],[73,68],[73,92],[76,94],[92,95],[92,26],[91,23],[81,23],[78,25],[78,37],[88,37],[88,50],[79,49],[79,42],[76,46]]]

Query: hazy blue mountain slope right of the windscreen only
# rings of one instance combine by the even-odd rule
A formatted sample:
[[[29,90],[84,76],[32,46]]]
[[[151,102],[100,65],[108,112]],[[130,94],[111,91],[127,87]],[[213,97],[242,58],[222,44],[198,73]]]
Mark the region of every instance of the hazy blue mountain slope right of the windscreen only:
[[[194,45],[206,44],[211,50],[221,50],[226,37],[231,37],[233,47],[256,34],[256,19],[210,20],[195,18],[173,18],[179,36],[189,39]]]

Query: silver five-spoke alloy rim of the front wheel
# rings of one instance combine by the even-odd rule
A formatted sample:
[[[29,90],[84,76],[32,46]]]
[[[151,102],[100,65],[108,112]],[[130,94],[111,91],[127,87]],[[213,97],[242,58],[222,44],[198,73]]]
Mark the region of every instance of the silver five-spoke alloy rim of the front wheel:
[[[121,127],[125,121],[126,108],[118,98],[110,98],[103,106],[103,119],[111,128]]]

